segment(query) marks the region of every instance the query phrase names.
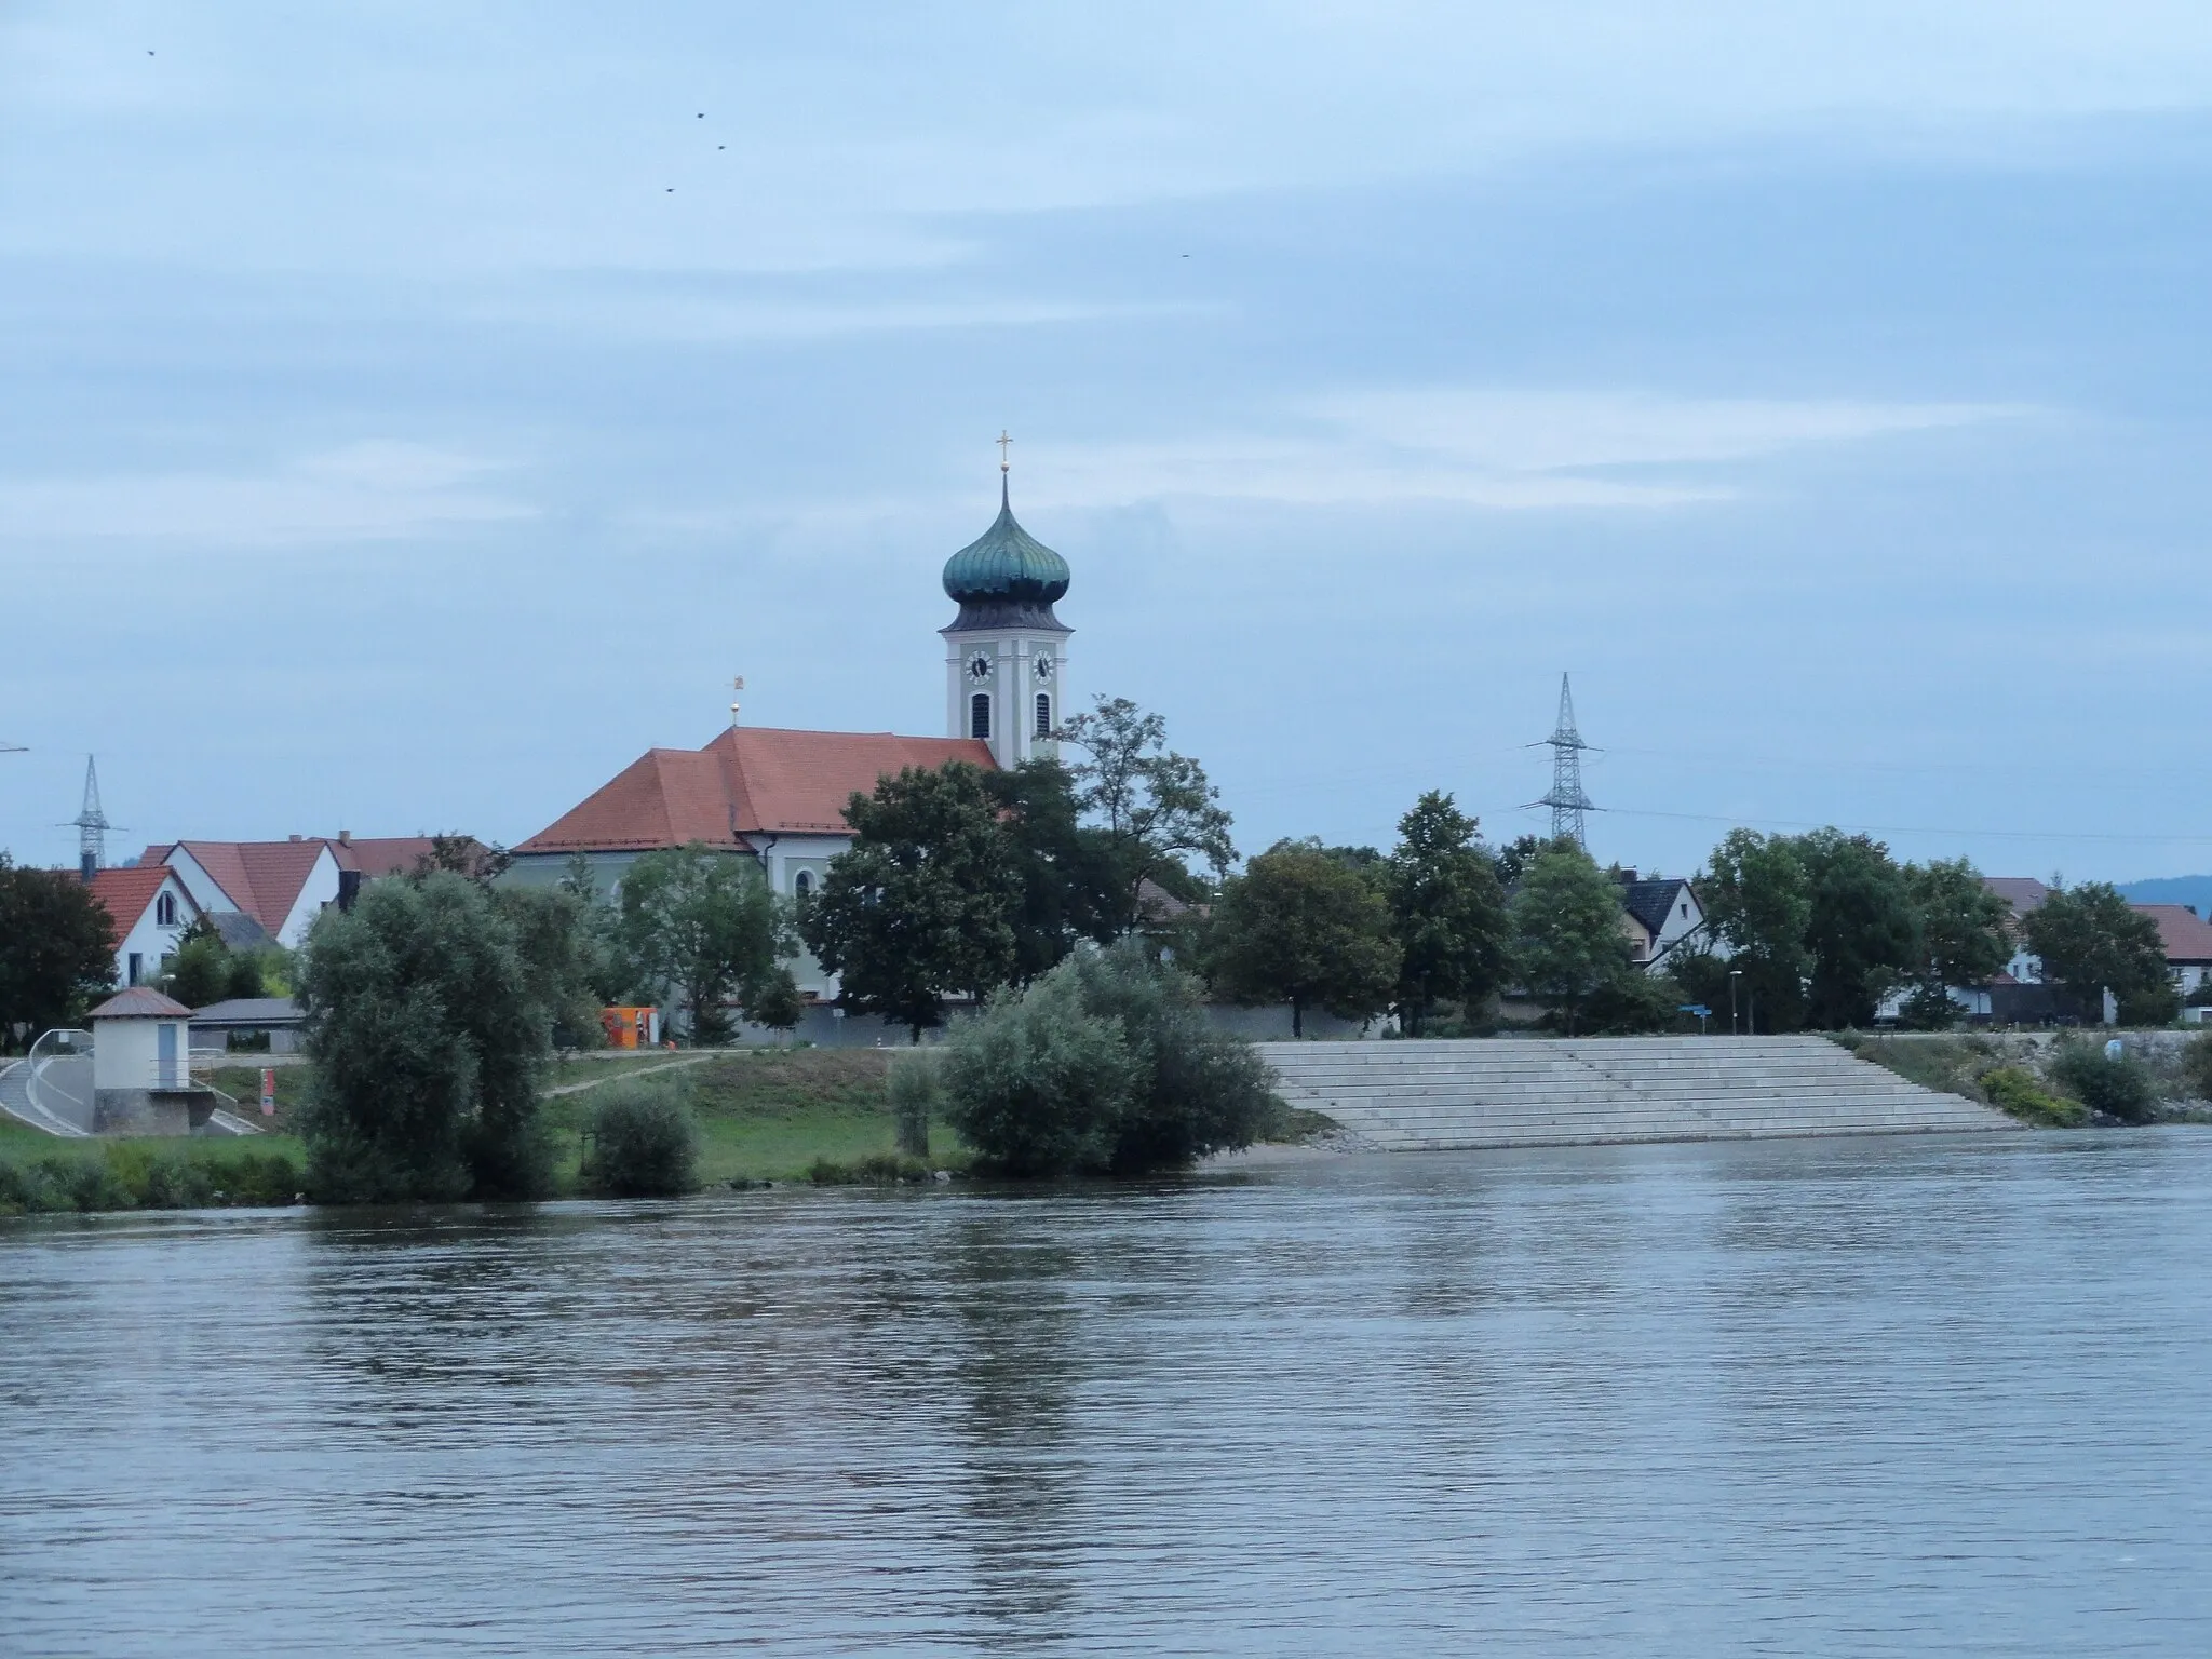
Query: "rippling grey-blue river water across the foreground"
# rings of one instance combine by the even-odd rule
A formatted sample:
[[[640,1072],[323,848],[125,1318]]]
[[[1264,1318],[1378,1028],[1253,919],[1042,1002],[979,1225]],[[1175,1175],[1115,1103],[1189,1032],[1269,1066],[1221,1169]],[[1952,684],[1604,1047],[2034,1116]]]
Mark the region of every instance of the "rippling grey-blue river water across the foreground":
[[[0,1652],[2212,1652],[2212,1133],[0,1223]]]

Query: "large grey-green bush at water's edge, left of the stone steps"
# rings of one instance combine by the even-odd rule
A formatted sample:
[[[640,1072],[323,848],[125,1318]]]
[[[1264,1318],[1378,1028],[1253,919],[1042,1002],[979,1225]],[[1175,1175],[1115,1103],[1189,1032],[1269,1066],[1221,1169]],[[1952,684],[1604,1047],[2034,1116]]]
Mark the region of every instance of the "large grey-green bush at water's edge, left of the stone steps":
[[[1274,1097],[1252,1044],[1137,940],[1079,951],[953,1026],[947,1117],[1002,1175],[1181,1168],[1250,1146]]]

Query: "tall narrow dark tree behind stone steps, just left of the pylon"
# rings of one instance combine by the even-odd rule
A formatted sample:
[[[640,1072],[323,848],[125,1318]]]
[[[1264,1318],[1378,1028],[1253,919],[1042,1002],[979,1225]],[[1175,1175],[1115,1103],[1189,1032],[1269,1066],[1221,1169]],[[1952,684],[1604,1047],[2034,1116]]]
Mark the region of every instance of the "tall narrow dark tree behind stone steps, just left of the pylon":
[[[1402,947],[1398,1024],[1420,1035],[1436,1002],[1486,1002],[1506,975],[1506,896],[1480,825],[1431,790],[1398,821],[1383,869]]]

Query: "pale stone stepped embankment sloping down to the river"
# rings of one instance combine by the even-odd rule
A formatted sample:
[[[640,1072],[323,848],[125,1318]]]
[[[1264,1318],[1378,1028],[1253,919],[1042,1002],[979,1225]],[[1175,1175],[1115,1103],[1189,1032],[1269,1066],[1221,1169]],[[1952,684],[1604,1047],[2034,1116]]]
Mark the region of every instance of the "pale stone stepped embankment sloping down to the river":
[[[1265,1042],[1276,1088],[1374,1150],[2020,1128],[1827,1037]]]

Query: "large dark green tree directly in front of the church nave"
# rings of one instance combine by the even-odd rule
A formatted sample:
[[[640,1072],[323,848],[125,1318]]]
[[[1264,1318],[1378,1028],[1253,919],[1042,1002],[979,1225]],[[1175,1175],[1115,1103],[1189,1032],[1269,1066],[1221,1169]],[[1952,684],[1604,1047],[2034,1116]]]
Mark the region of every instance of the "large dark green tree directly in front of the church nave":
[[[843,1002],[900,1022],[914,1042],[945,1018],[945,995],[978,1000],[1015,969],[1022,876],[1000,801],[982,772],[947,761],[907,768],[845,805],[852,845],[830,860],[799,931]]]

